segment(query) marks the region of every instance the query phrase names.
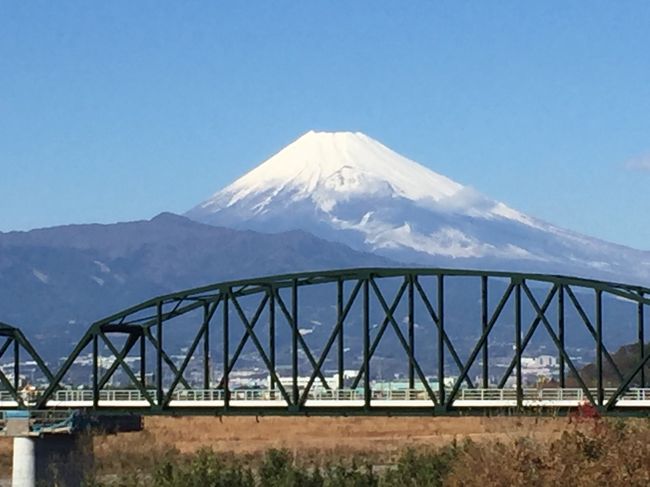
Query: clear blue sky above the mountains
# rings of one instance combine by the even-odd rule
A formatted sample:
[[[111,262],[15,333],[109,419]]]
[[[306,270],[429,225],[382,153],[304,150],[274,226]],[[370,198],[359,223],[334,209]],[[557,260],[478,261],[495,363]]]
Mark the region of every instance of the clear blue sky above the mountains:
[[[360,130],[650,249],[650,2],[0,3],[0,231],[182,213]]]

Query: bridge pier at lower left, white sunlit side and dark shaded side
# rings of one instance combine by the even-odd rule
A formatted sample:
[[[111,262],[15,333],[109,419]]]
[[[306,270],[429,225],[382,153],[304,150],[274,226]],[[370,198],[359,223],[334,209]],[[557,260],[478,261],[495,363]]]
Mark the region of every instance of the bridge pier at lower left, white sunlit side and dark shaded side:
[[[93,449],[89,435],[14,437],[12,487],[83,485],[92,466]]]

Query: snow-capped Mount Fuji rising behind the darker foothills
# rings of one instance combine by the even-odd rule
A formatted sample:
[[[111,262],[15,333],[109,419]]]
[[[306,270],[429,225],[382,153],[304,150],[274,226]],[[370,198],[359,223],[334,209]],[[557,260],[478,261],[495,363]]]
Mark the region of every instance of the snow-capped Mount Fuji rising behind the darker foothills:
[[[304,230],[409,265],[650,281],[650,252],[527,216],[359,132],[308,132],[186,216]]]

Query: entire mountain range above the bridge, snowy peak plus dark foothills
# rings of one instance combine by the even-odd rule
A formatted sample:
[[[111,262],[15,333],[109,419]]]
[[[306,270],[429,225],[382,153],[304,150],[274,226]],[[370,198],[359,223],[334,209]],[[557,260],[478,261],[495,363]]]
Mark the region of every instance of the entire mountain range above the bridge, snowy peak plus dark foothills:
[[[93,321],[156,295],[278,273],[404,265],[650,282],[649,252],[526,216],[363,134],[309,132],[186,216],[0,232],[0,321],[56,357]],[[465,309],[462,299],[455,304]],[[450,322],[450,334],[471,343],[470,321]],[[310,332],[315,341],[324,333]]]

